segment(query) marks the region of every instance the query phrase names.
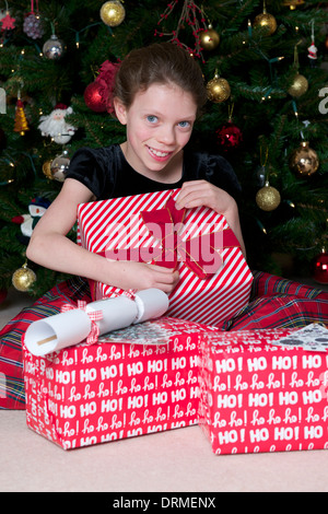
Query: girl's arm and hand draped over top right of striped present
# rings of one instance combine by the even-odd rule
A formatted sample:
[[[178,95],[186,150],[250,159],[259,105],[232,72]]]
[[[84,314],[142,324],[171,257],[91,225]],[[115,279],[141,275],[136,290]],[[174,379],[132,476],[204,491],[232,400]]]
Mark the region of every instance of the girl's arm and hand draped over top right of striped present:
[[[243,255],[246,258],[238,207],[234,198],[207,180],[190,180],[184,183],[176,200],[176,207],[178,209],[191,209],[192,207],[201,206],[209,207],[224,215],[229,226],[237,237]]]

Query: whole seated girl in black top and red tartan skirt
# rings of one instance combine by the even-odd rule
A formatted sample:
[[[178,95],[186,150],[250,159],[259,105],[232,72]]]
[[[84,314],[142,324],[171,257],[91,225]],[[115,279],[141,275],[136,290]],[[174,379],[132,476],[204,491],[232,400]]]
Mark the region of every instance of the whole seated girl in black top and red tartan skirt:
[[[57,314],[66,303],[91,302],[87,281],[81,277],[126,290],[154,287],[167,293],[177,283],[176,271],[109,261],[67,238],[79,203],[180,188],[178,208],[203,205],[224,214],[245,252],[236,203],[241,189],[232,167],[221,156],[186,149],[206,102],[197,62],[171,43],[133,50],[117,73],[113,102],[118,120],[126,125],[127,140],[120,145],[80,149],[60,194],[33,231],[27,257],[77,277],[54,287],[0,331],[0,371],[8,384],[0,390],[0,409],[24,408],[21,341],[28,325]],[[268,273],[254,274],[248,306],[224,320],[220,330],[328,322],[327,294]]]

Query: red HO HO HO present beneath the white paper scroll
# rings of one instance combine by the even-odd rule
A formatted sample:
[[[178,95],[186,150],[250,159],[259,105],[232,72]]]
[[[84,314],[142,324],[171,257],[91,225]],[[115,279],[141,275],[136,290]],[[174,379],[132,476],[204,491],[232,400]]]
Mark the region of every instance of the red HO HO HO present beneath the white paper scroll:
[[[197,423],[209,329],[165,317],[45,357],[24,346],[28,428],[69,449]]]

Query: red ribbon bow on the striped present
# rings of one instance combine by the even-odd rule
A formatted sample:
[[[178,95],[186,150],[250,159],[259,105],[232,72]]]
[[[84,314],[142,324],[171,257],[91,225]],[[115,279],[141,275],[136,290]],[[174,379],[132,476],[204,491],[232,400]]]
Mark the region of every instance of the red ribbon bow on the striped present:
[[[241,245],[231,229],[210,232],[183,241],[179,232],[184,226],[185,213],[186,209],[176,209],[172,196],[168,198],[164,209],[141,212],[144,224],[154,237],[159,235],[157,229],[160,227],[161,247],[151,248],[153,264],[176,269],[178,260],[180,260],[197,277],[206,279],[215,274],[223,264],[222,256],[216,248],[239,247]]]

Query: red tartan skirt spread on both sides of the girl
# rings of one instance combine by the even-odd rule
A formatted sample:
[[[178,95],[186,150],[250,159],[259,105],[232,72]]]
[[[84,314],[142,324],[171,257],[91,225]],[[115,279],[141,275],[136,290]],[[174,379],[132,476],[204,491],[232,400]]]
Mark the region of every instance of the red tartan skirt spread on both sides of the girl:
[[[249,304],[220,330],[303,327],[314,322],[328,324],[328,293],[308,285],[253,271]],[[63,304],[91,302],[86,281],[80,278],[52,288],[31,307],[24,308],[0,331],[0,409],[24,409],[22,337],[28,325],[60,312]]]

